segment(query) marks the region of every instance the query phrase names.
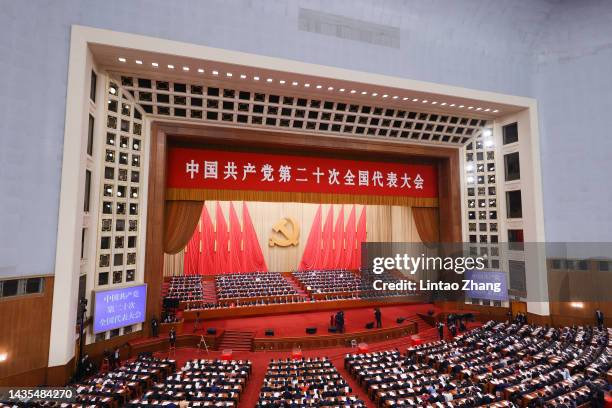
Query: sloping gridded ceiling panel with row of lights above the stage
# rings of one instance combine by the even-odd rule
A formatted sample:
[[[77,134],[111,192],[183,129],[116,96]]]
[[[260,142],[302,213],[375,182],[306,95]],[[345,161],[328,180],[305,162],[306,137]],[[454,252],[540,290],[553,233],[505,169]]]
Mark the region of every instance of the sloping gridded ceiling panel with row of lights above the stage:
[[[291,61],[278,71],[106,45],[90,49],[116,85],[165,120],[458,147],[492,120],[522,109],[490,102],[484,92],[478,100],[436,93],[436,84],[432,92],[401,80],[391,87],[389,78],[376,76],[377,84],[368,74],[365,82],[351,71],[351,78],[330,78],[326,67],[313,65],[307,73]]]

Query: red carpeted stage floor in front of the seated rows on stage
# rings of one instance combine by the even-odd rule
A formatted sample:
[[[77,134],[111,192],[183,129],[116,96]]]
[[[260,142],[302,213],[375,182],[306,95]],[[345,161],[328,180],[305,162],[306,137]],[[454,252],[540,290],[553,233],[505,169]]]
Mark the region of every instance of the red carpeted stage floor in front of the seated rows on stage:
[[[397,327],[398,317],[416,319],[417,313],[426,313],[435,309],[431,304],[410,304],[400,306],[383,306],[383,327]],[[316,327],[317,334],[327,334],[330,317],[335,311],[296,313],[277,316],[245,317],[236,319],[219,319],[204,321],[204,328],[215,327],[218,331],[236,330],[254,332],[255,337],[265,337],[266,329],[274,329],[275,337],[301,337],[305,336],[306,327]],[[365,324],[374,321],[374,309],[371,307],[360,309],[347,309],[344,311],[345,332],[354,333],[365,331]],[[185,332],[189,333],[191,323],[185,325]]]

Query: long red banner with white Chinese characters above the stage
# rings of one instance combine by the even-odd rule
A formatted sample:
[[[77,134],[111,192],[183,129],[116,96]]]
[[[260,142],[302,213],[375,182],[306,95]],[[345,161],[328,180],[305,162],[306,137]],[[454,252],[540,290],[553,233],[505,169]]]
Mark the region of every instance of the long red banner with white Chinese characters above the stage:
[[[188,148],[168,150],[169,188],[435,198],[437,183],[433,164]]]

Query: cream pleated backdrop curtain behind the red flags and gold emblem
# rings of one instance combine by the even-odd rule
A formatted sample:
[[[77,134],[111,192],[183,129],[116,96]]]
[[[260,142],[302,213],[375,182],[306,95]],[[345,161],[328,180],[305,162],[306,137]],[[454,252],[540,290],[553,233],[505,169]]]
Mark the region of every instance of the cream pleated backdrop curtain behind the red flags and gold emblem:
[[[207,201],[205,203],[213,223],[216,223],[215,212],[217,202],[221,205],[226,222],[229,222],[228,201]],[[302,259],[306,241],[310,234],[313,219],[318,209],[317,204],[308,203],[270,203],[248,202],[249,213],[262,248],[264,258],[270,271],[292,271],[297,269]],[[322,222],[325,223],[331,204],[322,204]],[[242,220],[242,203],[234,202],[238,218]],[[334,204],[334,226],[341,209],[340,204]],[[348,221],[352,206],[344,206],[344,223]],[[367,240],[370,242],[421,242],[412,218],[410,207],[388,205],[357,205],[356,219],[363,208],[366,208]],[[294,218],[300,226],[300,242],[291,247],[270,247],[268,240],[273,234],[272,226],[282,217]],[[164,256],[164,276],[182,274],[184,252]]]

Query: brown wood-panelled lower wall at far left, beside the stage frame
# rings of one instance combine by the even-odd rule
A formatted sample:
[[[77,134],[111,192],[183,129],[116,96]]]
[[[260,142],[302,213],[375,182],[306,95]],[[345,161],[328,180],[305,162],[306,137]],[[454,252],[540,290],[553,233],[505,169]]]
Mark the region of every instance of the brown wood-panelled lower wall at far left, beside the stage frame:
[[[44,280],[41,294],[0,300],[0,353],[8,354],[0,362],[0,385],[40,384],[49,359],[53,303],[53,277]],[[10,384],[10,377],[28,384]]]

